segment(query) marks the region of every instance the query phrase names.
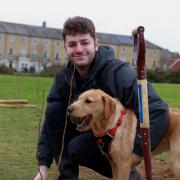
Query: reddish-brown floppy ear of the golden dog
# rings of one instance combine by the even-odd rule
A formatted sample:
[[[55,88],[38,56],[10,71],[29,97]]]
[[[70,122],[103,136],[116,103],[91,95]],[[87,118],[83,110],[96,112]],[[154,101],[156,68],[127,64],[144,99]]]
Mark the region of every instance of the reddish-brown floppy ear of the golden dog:
[[[111,117],[111,115],[114,113],[115,111],[115,102],[112,100],[111,97],[105,95],[102,96],[102,101],[104,104],[104,115],[106,119],[109,119]]]

